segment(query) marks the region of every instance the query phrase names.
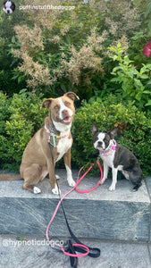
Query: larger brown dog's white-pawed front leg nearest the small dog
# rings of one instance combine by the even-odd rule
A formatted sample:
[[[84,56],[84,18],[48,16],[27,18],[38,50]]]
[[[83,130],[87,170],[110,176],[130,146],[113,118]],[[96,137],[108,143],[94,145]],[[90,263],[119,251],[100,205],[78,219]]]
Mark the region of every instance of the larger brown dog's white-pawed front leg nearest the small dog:
[[[70,187],[75,186],[75,181],[72,178],[72,173],[71,173],[71,149],[67,151],[66,154],[63,155],[63,160],[67,172],[67,181]]]

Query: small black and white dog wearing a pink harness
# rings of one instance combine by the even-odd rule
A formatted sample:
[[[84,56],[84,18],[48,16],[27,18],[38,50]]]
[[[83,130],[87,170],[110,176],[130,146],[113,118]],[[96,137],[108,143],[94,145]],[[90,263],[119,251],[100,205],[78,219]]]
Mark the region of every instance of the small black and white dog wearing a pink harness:
[[[92,125],[92,136],[94,147],[99,150],[99,157],[104,163],[104,177],[102,184],[107,179],[108,168],[112,168],[113,182],[109,188],[110,191],[115,190],[117,183],[117,172],[121,171],[127,180],[130,180],[134,185],[133,191],[137,191],[141,186],[142,171],[138,160],[130,150],[116,143],[114,136],[117,134],[117,129],[108,133],[99,132],[96,124]]]

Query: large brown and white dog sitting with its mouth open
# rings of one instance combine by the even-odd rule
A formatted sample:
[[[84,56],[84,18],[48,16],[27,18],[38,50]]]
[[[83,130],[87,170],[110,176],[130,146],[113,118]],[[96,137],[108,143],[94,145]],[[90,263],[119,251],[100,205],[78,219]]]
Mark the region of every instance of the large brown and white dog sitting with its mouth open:
[[[58,195],[55,183],[55,163],[63,157],[68,184],[74,187],[75,181],[71,174],[71,122],[75,113],[73,104],[75,98],[79,99],[73,92],[68,92],[58,98],[48,98],[42,103],[41,107],[48,109],[49,116],[45,119],[45,126],[30,139],[23,152],[21,175],[0,175],[0,180],[24,179],[22,188],[38,194],[41,190],[35,185],[49,174],[52,192]],[[48,145],[48,140],[52,144],[51,147]]]

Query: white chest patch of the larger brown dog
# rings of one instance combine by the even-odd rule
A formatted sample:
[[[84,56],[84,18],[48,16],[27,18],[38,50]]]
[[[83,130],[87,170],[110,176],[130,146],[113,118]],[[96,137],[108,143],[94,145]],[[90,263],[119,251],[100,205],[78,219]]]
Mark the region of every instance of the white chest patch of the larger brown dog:
[[[58,158],[56,160],[59,161],[63,155],[71,148],[72,139],[69,137],[61,138],[57,145],[57,152],[59,153]]]

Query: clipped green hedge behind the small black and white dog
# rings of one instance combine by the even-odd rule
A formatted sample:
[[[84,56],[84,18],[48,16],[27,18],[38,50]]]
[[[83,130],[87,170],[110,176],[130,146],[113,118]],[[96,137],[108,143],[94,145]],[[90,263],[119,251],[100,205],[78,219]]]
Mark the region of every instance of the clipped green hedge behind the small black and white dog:
[[[96,162],[98,151],[93,147],[91,126],[96,122],[99,130],[118,128],[116,140],[138,157],[143,172],[151,171],[151,120],[139,112],[132,102],[119,101],[111,95],[103,102],[84,103],[77,111],[73,124],[72,161],[79,167]]]

